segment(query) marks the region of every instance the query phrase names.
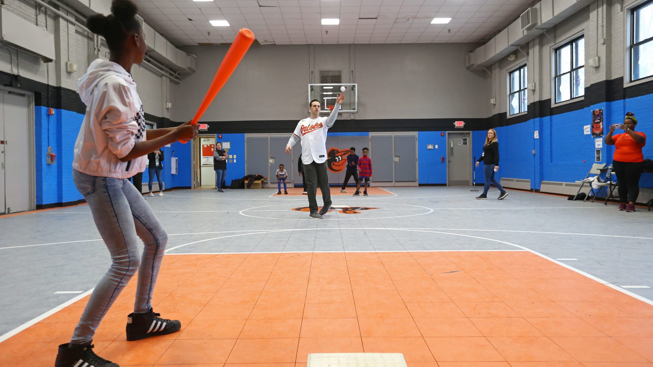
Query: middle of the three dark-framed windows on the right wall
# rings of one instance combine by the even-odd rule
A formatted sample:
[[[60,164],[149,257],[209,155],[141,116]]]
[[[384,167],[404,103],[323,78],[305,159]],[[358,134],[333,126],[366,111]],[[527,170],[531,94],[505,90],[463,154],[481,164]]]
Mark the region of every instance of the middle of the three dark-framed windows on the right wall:
[[[556,48],[556,103],[585,95],[585,39]]]

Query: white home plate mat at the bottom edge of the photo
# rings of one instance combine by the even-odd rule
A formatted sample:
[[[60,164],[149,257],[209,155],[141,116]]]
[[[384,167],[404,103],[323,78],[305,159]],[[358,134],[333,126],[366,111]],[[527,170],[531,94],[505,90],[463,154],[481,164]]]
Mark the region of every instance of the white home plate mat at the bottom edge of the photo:
[[[311,353],[307,367],[407,367],[402,353]]]

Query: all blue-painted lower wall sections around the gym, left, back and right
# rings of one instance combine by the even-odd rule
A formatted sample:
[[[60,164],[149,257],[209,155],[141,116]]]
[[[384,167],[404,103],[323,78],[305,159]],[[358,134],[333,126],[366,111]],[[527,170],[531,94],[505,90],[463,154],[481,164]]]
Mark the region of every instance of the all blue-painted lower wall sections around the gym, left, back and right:
[[[524,123],[497,127],[500,146],[500,167],[496,178],[525,178],[531,180],[532,189],[539,189],[540,182],[573,182],[583,177],[594,163],[594,138],[583,134],[583,126],[590,125],[592,110],[603,108],[604,133],[613,123],[624,120],[626,112],[634,112],[639,120],[637,130],[653,138],[653,94],[622,101],[599,103],[582,110],[567,112],[545,118],[535,118]],[[67,110],[55,110],[48,116],[48,108],[35,108],[36,146],[36,194],[37,205],[74,202],[83,199],[72,182],[72,159],[74,142],[84,115]],[[534,138],[534,131],[539,138]],[[420,131],[417,134],[419,156],[419,183],[447,183],[446,136],[440,131]],[[329,136],[366,136],[369,133],[329,133]],[[486,131],[472,132],[472,155],[483,152]],[[245,175],[245,135],[223,134],[217,141],[231,142],[230,155],[236,162],[227,165],[227,185],[231,180]],[[426,144],[436,144],[438,149],[426,150]],[[46,164],[48,145],[56,153],[56,164]],[[535,150],[535,154],[532,151]],[[166,187],[191,186],[191,144],[176,142],[164,147]],[[612,163],[613,146],[603,144],[602,163]],[[653,157],[653,142],[643,148],[645,157]],[[170,158],[178,157],[179,172],[170,174]],[[440,157],[445,157],[441,162]],[[148,182],[144,172],[143,182]],[[485,182],[483,171],[477,170],[476,182]],[[643,174],[641,187],[653,187],[653,174]]]

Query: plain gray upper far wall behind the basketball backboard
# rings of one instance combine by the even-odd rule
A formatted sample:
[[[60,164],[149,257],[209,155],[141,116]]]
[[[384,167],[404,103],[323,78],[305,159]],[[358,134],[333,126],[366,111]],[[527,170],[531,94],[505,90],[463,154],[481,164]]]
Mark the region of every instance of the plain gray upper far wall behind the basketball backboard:
[[[308,114],[308,84],[319,82],[320,70],[342,70],[343,82],[358,84],[357,120],[485,118],[489,107],[478,101],[488,95],[491,80],[464,66],[466,54],[477,46],[252,46],[202,120],[300,120]],[[190,120],[227,46],[183,50],[197,55],[197,72],[177,89],[178,119]]]

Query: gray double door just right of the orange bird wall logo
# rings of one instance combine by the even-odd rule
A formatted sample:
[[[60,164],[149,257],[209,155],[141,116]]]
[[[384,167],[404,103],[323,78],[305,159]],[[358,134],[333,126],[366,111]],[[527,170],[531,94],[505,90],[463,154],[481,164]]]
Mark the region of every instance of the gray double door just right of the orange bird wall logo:
[[[370,133],[373,186],[417,186],[417,133]]]

